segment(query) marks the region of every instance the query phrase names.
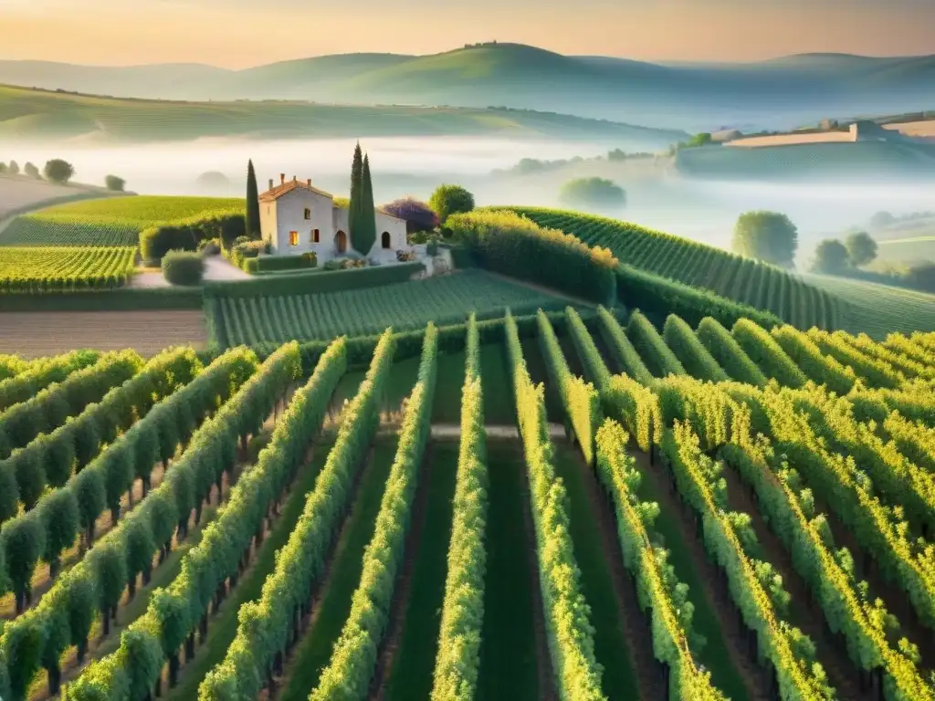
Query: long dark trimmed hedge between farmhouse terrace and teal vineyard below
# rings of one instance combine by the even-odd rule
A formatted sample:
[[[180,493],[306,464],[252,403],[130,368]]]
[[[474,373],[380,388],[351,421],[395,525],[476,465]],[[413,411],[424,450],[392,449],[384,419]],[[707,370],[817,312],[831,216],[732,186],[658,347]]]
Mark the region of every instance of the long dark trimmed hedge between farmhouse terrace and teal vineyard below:
[[[284,296],[289,294],[331,293],[341,290],[359,290],[366,287],[381,287],[394,282],[406,282],[425,269],[421,263],[374,265],[352,270],[309,272],[305,275],[273,276],[237,282],[209,282],[205,285],[205,296],[227,296],[233,298],[259,297],[263,295]]]

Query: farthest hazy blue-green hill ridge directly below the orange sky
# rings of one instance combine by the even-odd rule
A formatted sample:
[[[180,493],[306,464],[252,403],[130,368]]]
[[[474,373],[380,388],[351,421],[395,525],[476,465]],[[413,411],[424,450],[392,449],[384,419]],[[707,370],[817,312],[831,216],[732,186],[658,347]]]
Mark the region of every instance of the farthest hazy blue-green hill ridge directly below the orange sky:
[[[504,105],[710,131],[930,108],[935,56],[804,54],[756,64],[662,65],[508,43],[428,56],[321,56],[239,71],[202,64],[114,68],[7,61],[0,62],[0,82],[164,99]]]

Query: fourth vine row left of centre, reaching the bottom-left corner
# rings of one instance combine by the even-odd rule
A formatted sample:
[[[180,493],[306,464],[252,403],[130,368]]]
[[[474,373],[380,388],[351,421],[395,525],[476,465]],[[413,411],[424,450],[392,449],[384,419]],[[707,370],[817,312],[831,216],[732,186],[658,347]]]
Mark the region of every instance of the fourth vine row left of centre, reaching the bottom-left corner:
[[[78,646],[81,660],[87,649],[95,610],[101,612],[104,631],[108,633],[109,621],[123,589],[133,586],[139,573],[146,577],[153,555],[156,552],[165,554],[171,548],[173,536],[182,539],[186,535],[192,511],[200,512],[223,472],[230,472],[235,466],[237,436],[255,433],[288,383],[295,378],[299,370],[297,350],[293,344],[270,356],[237,393],[194,432],[180,460],[166,473],[159,487],[152,490],[107,536],[95,542],[94,548],[78,565],[60,575],[36,608],[7,624],[0,638],[0,648],[7,655],[13,701],[22,700],[39,667],[48,671],[50,690],[56,692],[62,653],[71,646]],[[244,365],[252,365],[252,353],[244,350],[232,352],[243,356]],[[122,467],[124,475],[130,465],[130,446],[127,443],[124,441],[122,455],[111,448],[100,459],[107,460],[114,467]],[[117,455],[107,457],[115,452]],[[85,468],[79,476],[87,471]],[[102,478],[98,476],[98,479]],[[153,625],[165,623],[166,614],[171,622],[184,621],[174,618],[181,611],[172,610],[172,603],[171,600],[166,601],[165,592],[154,594],[148,614],[134,624],[133,631],[124,633],[121,649],[100,664],[91,665],[82,678],[104,683],[111,698],[130,695],[130,690],[135,698],[142,698],[145,694],[142,694],[138,683],[130,683],[128,689],[122,689],[126,677],[116,674],[113,667],[129,667],[134,674],[151,672],[152,665],[143,664],[144,661],[137,657],[151,654],[151,637],[140,634],[151,632]],[[194,600],[184,601],[183,611],[187,612],[193,603]],[[153,608],[157,609],[158,615],[150,615]],[[166,650],[165,654],[169,652]],[[108,671],[102,675],[100,672],[103,670]],[[78,684],[74,694],[65,694],[65,697],[89,698],[81,695],[80,690]]]

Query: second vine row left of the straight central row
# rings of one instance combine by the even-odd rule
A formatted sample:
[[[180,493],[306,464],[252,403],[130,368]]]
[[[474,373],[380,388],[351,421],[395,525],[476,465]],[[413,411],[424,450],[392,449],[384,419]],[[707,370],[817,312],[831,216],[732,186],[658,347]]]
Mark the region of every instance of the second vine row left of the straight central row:
[[[341,414],[335,445],[306,499],[301,519],[280,551],[276,569],[266,578],[259,599],[240,608],[237,637],[223,663],[202,682],[201,701],[256,698],[276,653],[285,650],[295,612],[308,602],[311,586],[322,574],[328,543],[351,498],[354,472],[380,422],[380,398],[392,362],[393,336],[387,330],[374,351],[367,377]],[[322,411],[326,405],[323,397]]]

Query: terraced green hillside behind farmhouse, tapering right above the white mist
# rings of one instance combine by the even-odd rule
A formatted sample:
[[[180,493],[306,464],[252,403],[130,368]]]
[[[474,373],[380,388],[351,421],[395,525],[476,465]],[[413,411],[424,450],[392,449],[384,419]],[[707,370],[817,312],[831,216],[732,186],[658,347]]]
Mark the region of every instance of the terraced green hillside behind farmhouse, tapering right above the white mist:
[[[189,140],[205,136],[512,136],[664,149],[683,132],[505,108],[366,107],[308,102],[172,102],[0,86],[0,139]]]

